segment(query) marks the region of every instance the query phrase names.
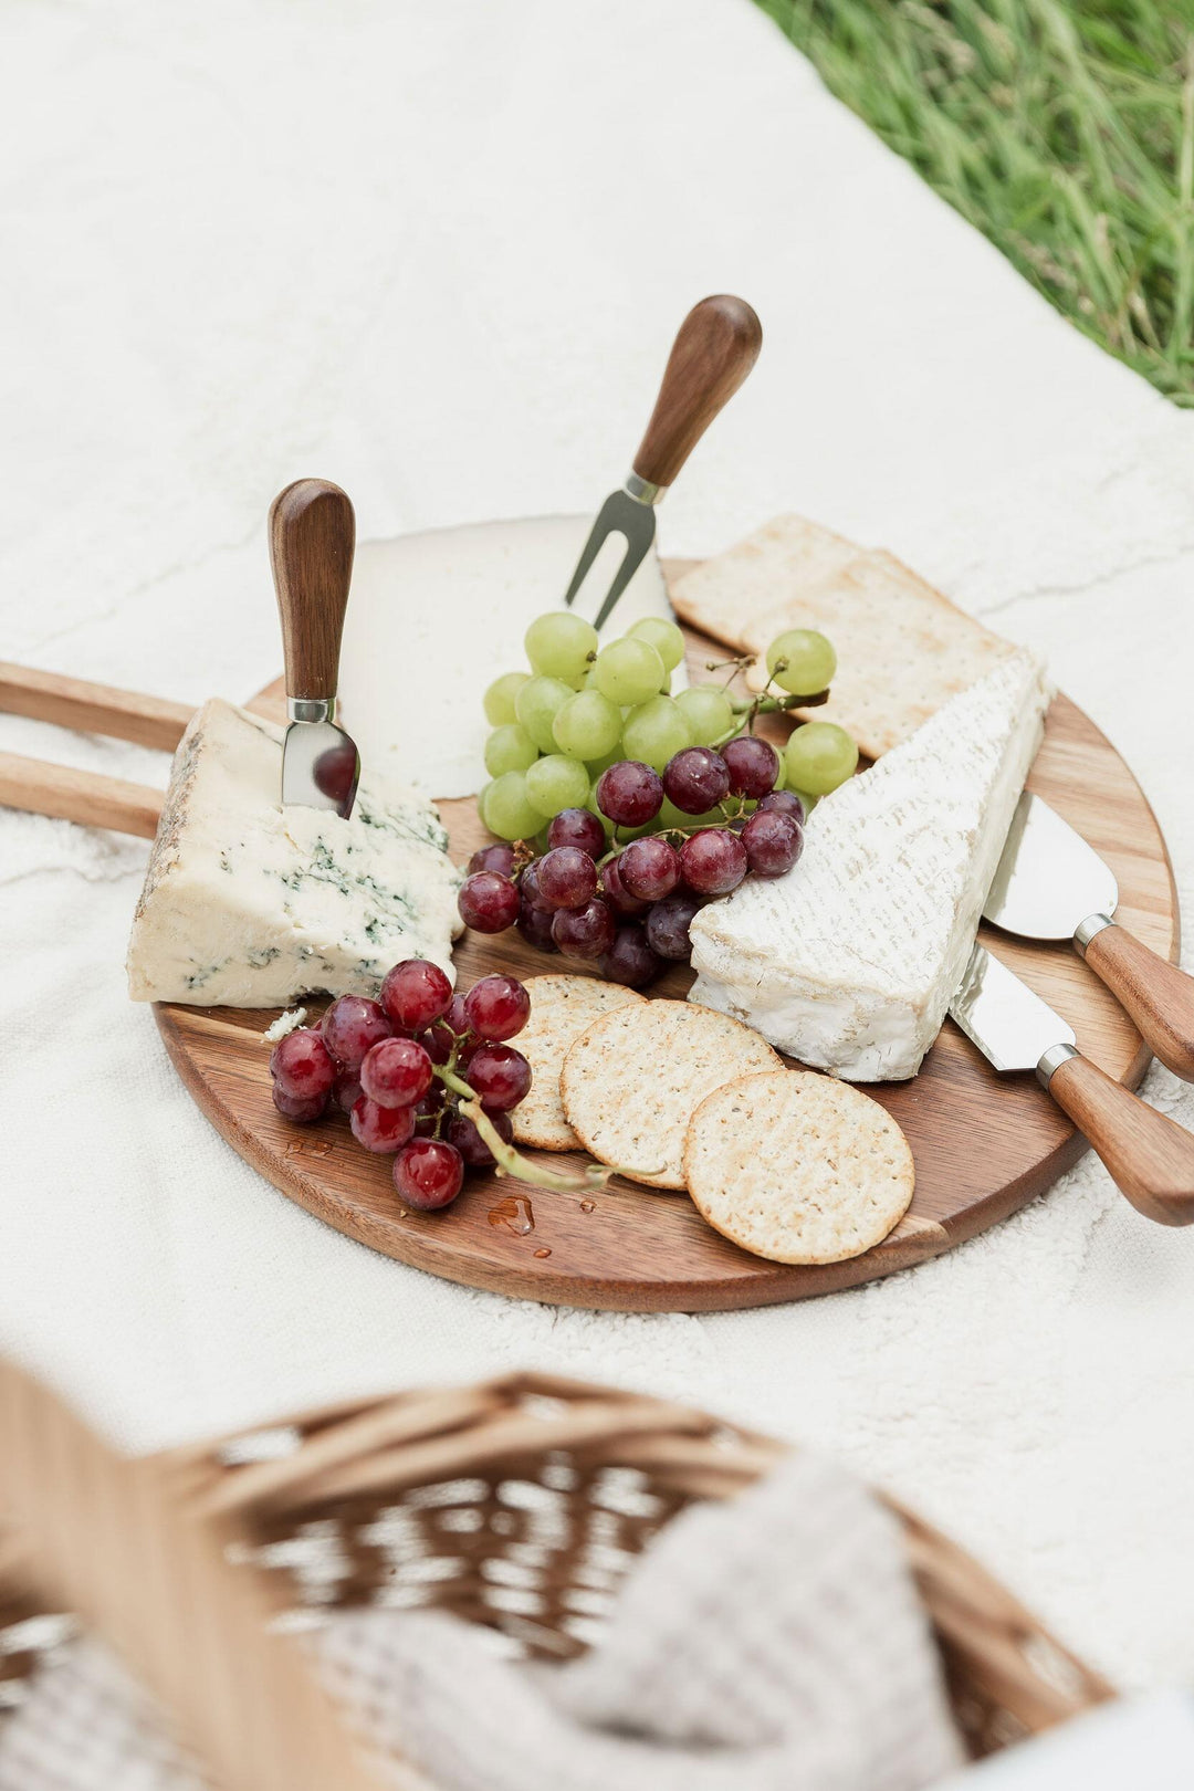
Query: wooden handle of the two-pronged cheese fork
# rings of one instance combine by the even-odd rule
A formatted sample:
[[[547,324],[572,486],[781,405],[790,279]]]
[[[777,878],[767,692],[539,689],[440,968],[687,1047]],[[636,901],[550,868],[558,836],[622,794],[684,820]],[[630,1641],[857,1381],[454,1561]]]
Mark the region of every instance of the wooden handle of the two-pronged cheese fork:
[[[664,383],[634,457],[650,485],[671,485],[718,410],[743,383],[763,346],[763,324],[745,299],[718,294],[680,324]]]

